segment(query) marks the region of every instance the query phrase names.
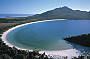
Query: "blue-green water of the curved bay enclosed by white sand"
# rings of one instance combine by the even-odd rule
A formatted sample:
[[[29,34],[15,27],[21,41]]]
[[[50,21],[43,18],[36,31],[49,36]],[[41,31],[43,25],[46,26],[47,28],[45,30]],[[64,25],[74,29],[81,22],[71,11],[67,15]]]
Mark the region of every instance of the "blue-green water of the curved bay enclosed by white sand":
[[[11,31],[7,40],[18,47],[40,50],[77,49],[82,52],[88,47],[71,44],[65,37],[90,33],[89,20],[56,20],[33,23]]]

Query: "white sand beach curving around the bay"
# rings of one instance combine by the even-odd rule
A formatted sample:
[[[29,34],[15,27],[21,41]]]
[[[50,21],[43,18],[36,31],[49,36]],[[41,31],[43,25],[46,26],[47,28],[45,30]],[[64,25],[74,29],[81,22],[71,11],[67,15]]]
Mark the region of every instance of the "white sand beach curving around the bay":
[[[36,21],[36,22],[31,22],[31,23],[26,23],[26,24],[21,24],[21,25],[17,25],[9,30],[7,30],[6,32],[3,33],[1,39],[2,41],[4,41],[4,43],[6,43],[6,45],[8,45],[9,47],[13,47],[15,45],[12,45],[11,43],[8,42],[8,40],[6,39],[7,35],[15,30],[16,28],[28,25],[28,24],[34,24],[34,23],[39,23],[39,22],[46,22],[46,21],[56,21],[56,20],[66,20],[66,19],[53,19],[53,20],[44,20],[44,21]],[[25,49],[25,48],[19,48],[18,46],[15,46],[17,49],[20,50],[29,50],[29,49]],[[29,50],[29,51],[33,51],[33,50]],[[57,56],[79,56],[80,53],[78,53],[79,51],[75,50],[75,49],[68,49],[68,50],[60,50],[60,51],[40,51],[40,53],[46,53],[46,55],[57,55]],[[72,52],[72,53],[70,53]]]

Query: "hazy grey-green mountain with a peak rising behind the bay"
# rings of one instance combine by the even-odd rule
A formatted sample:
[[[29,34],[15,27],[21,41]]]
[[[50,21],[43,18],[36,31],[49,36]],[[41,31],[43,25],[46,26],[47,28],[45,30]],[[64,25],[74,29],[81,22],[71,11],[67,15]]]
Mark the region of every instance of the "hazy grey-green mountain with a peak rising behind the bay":
[[[72,10],[66,6],[29,16],[30,19],[90,19],[90,12]]]

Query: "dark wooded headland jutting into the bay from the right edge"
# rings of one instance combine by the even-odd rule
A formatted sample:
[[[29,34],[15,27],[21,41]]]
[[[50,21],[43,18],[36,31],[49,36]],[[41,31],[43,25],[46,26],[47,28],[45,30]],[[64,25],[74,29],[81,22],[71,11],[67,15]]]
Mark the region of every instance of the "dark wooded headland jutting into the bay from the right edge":
[[[82,46],[90,47],[90,34],[82,34],[78,36],[72,36],[69,38],[65,38],[69,42],[73,42]]]

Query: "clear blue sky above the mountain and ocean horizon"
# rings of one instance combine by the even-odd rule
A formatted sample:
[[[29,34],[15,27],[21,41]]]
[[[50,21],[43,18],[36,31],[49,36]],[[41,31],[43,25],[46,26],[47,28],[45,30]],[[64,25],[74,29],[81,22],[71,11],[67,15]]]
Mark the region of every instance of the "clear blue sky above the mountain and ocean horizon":
[[[0,14],[40,14],[63,6],[90,11],[90,0],[0,0]]]

